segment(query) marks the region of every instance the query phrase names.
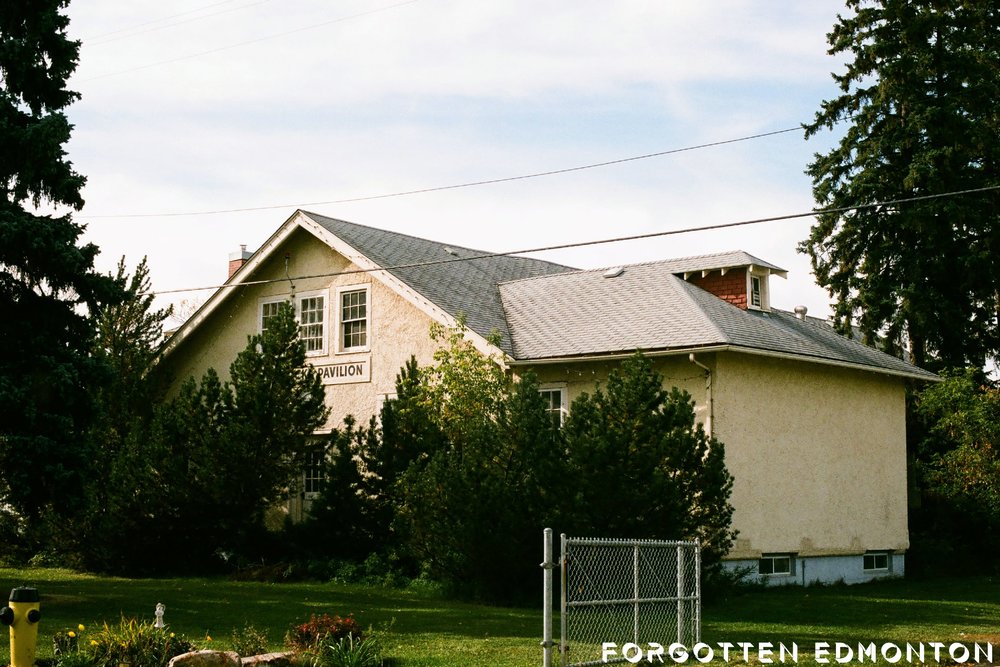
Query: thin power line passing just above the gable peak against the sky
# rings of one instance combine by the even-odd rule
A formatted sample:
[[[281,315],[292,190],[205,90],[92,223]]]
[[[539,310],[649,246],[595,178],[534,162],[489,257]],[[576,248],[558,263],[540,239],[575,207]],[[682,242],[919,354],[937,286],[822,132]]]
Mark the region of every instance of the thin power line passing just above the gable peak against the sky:
[[[736,139],[722,139],[720,141],[712,141],[704,144],[697,144],[695,146],[685,146],[683,148],[672,148],[665,151],[659,151],[657,153],[646,153],[644,155],[633,155],[631,157],[618,158],[615,160],[608,160],[605,162],[595,162],[592,164],[579,165],[576,167],[566,167],[563,169],[553,169],[550,171],[539,171],[531,174],[521,174],[519,176],[506,176],[502,178],[491,178],[481,181],[470,181],[467,183],[457,183],[453,185],[440,185],[436,187],[419,188],[416,190],[403,190],[399,192],[389,192],[385,194],[377,195],[365,195],[360,197],[349,197],[345,199],[332,199],[329,201],[318,201],[318,202],[307,202],[298,204],[273,204],[268,206],[250,206],[245,208],[227,208],[227,209],[214,209],[208,211],[183,211],[174,213],[118,213],[112,215],[79,215],[75,216],[77,218],[87,218],[87,219],[109,219],[109,218],[173,218],[182,216],[195,216],[195,215],[219,215],[222,213],[248,213],[250,211],[268,211],[274,209],[287,209],[287,208],[307,208],[311,206],[330,206],[333,204],[349,204],[354,202],[362,201],[372,201],[375,199],[390,199],[393,197],[407,197],[410,195],[426,194],[429,192],[441,192],[444,190],[458,190],[460,188],[473,188],[482,185],[496,185],[498,183],[509,183],[511,181],[523,181],[530,178],[541,178],[543,176],[556,176],[558,174],[568,174],[574,171],[583,171],[585,169],[597,169],[598,167],[610,167],[617,164],[624,164],[626,162],[635,162],[637,160],[648,160],[654,157],[663,157],[665,155],[673,155],[676,153],[685,153],[688,151],[695,151],[703,148],[712,148],[715,146],[725,146],[726,144],[735,144],[742,141],[751,141],[753,139],[763,139],[765,137],[773,137],[779,134],[786,134],[788,132],[797,132],[802,130],[802,126],[787,127],[783,130],[773,130],[771,132],[761,132],[759,134],[751,134],[745,137],[738,137]]]

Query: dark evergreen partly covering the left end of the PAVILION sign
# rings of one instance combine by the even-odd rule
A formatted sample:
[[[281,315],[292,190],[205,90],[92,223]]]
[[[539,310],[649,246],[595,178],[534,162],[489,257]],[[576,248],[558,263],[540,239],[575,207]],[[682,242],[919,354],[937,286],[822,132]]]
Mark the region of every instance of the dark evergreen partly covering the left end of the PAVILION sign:
[[[230,381],[209,369],[158,406],[131,470],[135,518],[123,567],[204,569],[261,546],[267,511],[287,498],[328,414],[290,304],[249,336]]]

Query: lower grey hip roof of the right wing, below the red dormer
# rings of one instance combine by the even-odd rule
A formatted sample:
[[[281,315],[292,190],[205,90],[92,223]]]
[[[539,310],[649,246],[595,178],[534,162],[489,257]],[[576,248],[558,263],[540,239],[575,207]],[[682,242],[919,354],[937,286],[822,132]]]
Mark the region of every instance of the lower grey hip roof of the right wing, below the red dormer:
[[[514,358],[540,362],[635,350],[724,348],[936,377],[845,338],[815,318],[737,308],[677,275],[703,270],[686,266],[693,265],[667,260],[626,266],[616,277],[605,277],[603,270],[575,271],[502,284]]]

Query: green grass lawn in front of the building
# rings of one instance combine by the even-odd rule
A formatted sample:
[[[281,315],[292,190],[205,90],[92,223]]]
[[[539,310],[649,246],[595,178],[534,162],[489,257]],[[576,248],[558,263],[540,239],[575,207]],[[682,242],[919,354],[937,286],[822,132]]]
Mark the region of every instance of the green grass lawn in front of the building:
[[[502,608],[414,590],[339,584],[118,579],[55,569],[0,569],[3,595],[20,585],[35,586],[42,594],[40,657],[51,655],[48,638],[57,631],[79,624],[89,630],[122,616],[152,621],[156,603],[162,602],[171,630],[202,648],[228,648],[232,631],[251,623],[267,632],[277,650],[289,626],[312,613],[354,614],[363,627],[388,627],[385,653],[401,667],[541,663],[541,590],[537,607]],[[702,637],[709,643],[797,642],[805,651],[816,641],[978,641],[994,644],[1000,661],[997,577],[753,590],[706,606],[703,619]],[[6,659],[4,643],[0,660]]]

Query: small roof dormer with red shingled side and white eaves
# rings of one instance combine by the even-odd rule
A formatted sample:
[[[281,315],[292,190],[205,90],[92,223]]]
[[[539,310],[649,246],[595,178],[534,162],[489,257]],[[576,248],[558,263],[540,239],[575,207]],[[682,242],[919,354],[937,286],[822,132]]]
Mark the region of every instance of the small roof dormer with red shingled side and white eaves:
[[[784,269],[745,252],[728,252],[678,260],[675,273],[723,301],[743,310],[771,310],[770,277],[788,277]]]

